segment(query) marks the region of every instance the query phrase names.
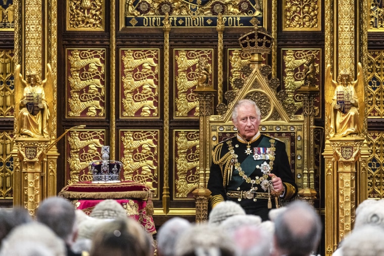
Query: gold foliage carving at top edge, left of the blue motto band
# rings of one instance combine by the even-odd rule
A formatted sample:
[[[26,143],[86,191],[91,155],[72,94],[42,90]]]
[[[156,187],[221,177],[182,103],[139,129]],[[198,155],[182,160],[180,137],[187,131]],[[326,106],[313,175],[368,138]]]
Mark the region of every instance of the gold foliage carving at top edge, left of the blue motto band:
[[[104,30],[105,1],[66,0],[67,30]]]

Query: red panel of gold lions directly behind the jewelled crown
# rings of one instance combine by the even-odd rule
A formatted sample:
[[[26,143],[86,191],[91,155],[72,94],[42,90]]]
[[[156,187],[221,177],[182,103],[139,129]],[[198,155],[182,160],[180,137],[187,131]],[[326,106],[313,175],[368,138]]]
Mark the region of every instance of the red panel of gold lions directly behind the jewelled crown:
[[[105,130],[72,130],[66,134],[66,182],[90,181],[88,165],[102,159]],[[107,146],[107,145],[106,145]]]

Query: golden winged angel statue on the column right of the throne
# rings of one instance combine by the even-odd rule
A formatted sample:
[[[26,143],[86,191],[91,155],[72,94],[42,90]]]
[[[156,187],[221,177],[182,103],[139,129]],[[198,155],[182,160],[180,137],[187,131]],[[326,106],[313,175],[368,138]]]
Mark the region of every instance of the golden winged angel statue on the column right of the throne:
[[[357,64],[357,79],[352,81],[346,70],[332,79],[330,65],[325,71],[325,101],[328,136],[360,136],[364,122],[364,79],[361,63]]]

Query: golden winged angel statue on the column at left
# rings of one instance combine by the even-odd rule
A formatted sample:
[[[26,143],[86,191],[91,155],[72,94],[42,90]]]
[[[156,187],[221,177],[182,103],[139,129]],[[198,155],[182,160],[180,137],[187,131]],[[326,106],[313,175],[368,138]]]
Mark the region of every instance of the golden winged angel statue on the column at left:
[[[16,137],[50,138],[50,106],[53,101],[53,78],[51,65],[47,64],[46,78],[31,71],[26,80],[20,73],[20,65],[15,72],[15,124]]]

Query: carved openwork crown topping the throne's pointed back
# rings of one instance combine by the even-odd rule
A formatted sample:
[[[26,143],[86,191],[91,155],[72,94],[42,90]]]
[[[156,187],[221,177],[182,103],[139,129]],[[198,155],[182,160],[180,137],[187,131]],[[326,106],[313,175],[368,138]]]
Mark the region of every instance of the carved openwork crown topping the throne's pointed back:
[[[252,22],[252,21],[251,21]],[[253,21],[254,30],[238,38],[244,54],[270,54],[272,52],[272,35],[265,28],[258,27],[259,22]]]

